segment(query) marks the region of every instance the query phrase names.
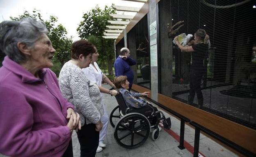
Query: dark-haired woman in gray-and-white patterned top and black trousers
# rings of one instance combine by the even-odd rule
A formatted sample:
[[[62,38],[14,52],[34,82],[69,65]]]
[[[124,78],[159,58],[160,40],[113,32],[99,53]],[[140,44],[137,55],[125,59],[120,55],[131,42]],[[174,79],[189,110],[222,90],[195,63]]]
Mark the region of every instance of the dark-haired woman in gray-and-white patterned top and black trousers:
[[[71,60],[64,64],[59,73],[62,95],[75,105],[81,117],[82,128],[77,133],[81,157],[95,157],[102,128],[104,111],[100,90],[82,71],[82,68],[89,66],[91,55],[95,52],[95,46],[86,40],[74,42]]]

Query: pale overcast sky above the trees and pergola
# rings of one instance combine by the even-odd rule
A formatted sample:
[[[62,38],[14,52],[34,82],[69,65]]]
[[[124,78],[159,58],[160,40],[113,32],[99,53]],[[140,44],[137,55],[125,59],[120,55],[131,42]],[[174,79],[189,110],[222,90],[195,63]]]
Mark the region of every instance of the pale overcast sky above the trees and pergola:
[[[0,22],[10,20],[10,16],[17,17],[33,9],[41,11],[44,20],[48,20],[50,15],[55,15],[58,22],[63,24],[68,31],[68,36],[73,36],[73,40],[78,40],[76,31],[82,21],[83,13],[94,8],[97,4],[104,8],[105,5],[116,5],[142,7],[143,3],[129,2],[125,0],[0,0]],[[130,13],[125,13],[130,14]]]

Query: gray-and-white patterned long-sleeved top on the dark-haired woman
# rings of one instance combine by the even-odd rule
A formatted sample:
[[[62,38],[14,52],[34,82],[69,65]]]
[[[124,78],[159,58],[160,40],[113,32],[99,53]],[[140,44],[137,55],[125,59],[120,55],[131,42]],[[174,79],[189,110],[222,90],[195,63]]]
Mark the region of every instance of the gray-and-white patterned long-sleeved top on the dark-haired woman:
[[[59,88],[63,97],[75,106],[82,125],[96,124],[101,119],[104,111],[100,90],[81,68],[66,62],[59,73]]]

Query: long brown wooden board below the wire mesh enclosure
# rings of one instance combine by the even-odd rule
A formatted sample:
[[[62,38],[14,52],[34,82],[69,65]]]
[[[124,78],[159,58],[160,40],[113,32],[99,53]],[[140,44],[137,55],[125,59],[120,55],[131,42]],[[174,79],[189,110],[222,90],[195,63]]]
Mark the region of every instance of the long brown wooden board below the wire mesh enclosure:
[[[256,154],[256,130],[158,94],[158,102]]]

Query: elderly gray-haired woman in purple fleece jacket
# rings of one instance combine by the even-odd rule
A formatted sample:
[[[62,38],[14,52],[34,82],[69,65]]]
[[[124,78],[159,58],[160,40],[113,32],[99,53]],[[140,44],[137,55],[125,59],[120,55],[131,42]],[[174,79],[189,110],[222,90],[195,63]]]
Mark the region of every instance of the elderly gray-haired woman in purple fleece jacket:
[[[18,157],[73,157],[80,129],[74,106],[62,97],[45,24],[32,18],[0,23],[0,153]]]

